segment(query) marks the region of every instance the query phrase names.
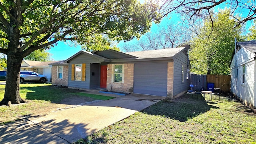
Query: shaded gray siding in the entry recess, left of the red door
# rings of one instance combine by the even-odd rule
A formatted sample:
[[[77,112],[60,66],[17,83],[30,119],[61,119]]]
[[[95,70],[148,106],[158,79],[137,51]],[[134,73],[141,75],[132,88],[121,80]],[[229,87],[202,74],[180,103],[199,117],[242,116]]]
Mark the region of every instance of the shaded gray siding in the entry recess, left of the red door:
[[[91,64],[90,89],[96,89],[99,87],[100,87],[100,64]]]

